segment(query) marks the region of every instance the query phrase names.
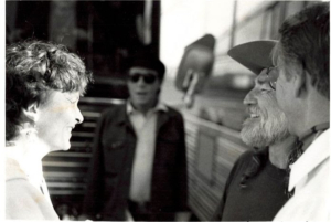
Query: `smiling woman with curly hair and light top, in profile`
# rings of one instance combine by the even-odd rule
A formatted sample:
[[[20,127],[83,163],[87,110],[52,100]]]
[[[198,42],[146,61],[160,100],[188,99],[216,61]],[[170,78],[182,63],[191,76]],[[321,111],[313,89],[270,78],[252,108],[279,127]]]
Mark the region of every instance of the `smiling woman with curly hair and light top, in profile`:
[[[63,45],[25,41],[6,49],[6,219],[58,220],[42,158],[67,150],[83,121],[77,107],[92,74]]]

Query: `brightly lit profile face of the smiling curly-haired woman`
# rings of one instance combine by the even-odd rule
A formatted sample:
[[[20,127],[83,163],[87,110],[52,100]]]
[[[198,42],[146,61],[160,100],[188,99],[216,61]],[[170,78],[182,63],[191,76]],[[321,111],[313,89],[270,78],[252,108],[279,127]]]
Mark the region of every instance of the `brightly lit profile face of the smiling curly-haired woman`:
[[[52,91],[47,101],[41,104],[35,128],[39,139],[50,151],[67,150],[71,147],[72,129],[83,121],[77,107],[79,92],[62,93]]]

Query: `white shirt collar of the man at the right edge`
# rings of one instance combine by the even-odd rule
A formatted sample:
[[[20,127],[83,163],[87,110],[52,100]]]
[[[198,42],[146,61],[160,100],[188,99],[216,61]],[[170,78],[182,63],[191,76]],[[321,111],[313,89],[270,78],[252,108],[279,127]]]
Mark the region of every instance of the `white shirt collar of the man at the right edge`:
[[[318,165],[330,157],[330,129],[323,131],[302,156],[292,165],[288,190],[311,172]]]

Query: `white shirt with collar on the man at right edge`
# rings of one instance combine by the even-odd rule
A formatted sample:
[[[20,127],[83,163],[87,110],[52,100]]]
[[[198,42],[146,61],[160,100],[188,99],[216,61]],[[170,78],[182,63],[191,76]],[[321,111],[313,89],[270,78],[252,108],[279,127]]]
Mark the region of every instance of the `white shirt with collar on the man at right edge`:
[[[274,221],[330,220],[330,130],[321,134],[292,165],[289,190],[295,195]]]

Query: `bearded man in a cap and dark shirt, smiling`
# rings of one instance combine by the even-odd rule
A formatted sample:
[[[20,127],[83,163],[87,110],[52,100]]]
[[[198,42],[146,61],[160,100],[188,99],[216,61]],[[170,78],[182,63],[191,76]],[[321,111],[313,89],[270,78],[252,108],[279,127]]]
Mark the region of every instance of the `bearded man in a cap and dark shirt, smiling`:
[[[257,74],[244,104],[249,117],[241,131],[253,147],[235,162],[213,220],[270,221],[286,203],[287,158],[296,138],[288,133],[287,118],[276,101],[270,53],[275,41],[237,45],[228,55]]]

